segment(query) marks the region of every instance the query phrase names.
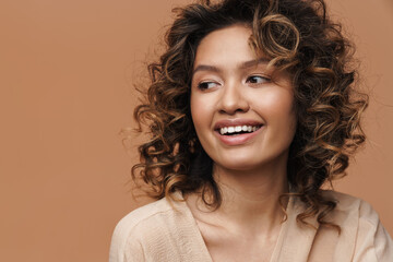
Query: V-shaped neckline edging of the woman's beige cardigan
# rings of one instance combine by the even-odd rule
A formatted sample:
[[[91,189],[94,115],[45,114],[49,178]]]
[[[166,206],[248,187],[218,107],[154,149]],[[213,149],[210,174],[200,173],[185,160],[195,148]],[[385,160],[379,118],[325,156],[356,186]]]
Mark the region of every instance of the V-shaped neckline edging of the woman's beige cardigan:
[[[183,214],[187,216],[187,219],[190,222],[190,226],[192,225],[192,231],[193,231],[193,236],[191,236],[192,240],[198,241],[198,246],[200,246],[201,251],[203,250],[204,253],[203,257],[209,258],[209,262],[214,262],[211,253],[209,252],[207,246],[203,239],[202,233],[198,226],[196,219],[193,216],[191,209],[188,206],[182,193],[178,191],[175,194],[181,200],[180,202],[178,202],[178,204],[184,211]],[[281,225],[277,240],[275,242],[272,255],[270,258],[270,262],[277,262],[278,258],[281,257],[279,253],[282,248],[284,247],[285,236],[287,235],[288,231],[288,219],[291,215],[293,210],[294,210],[294,198],[289,196],[288,204],[286,207],[287,219],[284,221]]]

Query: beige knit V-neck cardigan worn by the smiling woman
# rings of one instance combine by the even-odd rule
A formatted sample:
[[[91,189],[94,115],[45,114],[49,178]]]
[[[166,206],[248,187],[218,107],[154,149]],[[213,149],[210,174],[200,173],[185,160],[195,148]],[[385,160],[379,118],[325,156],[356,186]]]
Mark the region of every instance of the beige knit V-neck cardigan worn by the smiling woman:
[[[296,216],[302,203],[291,198],[271,262],[393,262],[392,239],[368,203],[333,191],[323,193],[338,201],[332,219],[341,226],[341,235],[299,226]],[[122,218],[112,236],[109,262],[212,262],[188,205],[172,203],[175,209],[162,199]],[[315,221],[311,223],[318,227]]]

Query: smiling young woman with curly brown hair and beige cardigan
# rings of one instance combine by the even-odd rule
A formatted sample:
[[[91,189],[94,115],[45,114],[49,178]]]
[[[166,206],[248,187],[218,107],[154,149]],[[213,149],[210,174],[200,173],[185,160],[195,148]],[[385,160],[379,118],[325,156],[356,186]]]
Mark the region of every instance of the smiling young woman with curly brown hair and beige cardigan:
[[[322,190],[365,142],[367,96],[322,0],[177,9],[135,117],[156,202],[116,227],[111,262],[393,261],[366,202]]]

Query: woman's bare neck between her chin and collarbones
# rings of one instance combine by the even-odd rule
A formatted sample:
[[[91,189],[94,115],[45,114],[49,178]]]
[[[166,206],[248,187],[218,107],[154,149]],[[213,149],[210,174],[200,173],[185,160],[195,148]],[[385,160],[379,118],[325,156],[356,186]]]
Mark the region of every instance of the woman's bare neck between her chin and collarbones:
[[[228,171],[215,167],[214,178],[223,200],[216,213],[225,221],[243,227],[239,228],[242,230],[264,228],[266,231],[282,222],[284,212],[278,198],[288,192],[286,167],[257,171]]]

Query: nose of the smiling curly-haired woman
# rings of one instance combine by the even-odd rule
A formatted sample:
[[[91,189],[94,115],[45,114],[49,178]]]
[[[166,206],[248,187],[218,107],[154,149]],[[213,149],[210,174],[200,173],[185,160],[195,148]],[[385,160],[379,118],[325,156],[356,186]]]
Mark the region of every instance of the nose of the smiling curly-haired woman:
[[[236,112],[246,112],[250,109],[241,87],[239,83],[231,83],[224,86],[223,94],[217,104],[219,112],[234,115]]]

